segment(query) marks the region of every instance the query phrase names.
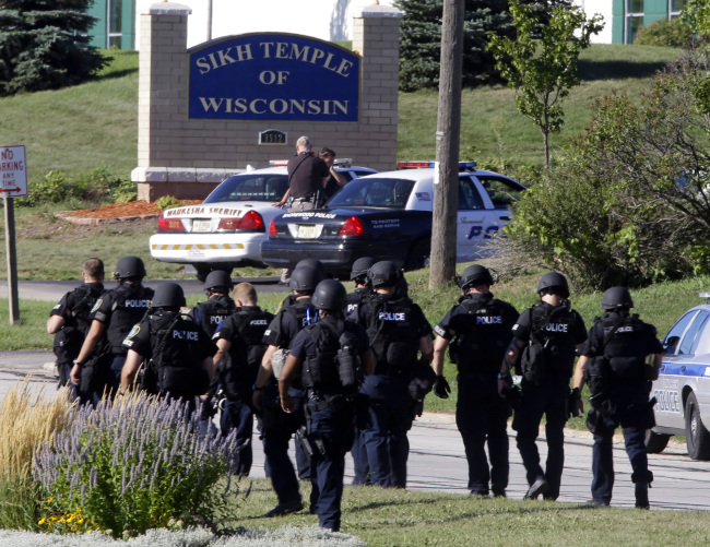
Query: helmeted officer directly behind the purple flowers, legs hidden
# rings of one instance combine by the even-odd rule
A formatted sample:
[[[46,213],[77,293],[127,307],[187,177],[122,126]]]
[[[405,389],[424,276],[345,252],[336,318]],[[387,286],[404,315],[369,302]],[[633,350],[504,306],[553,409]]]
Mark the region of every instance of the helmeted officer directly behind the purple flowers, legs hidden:
[[[214,376],[212,356],[216,346],[201,325],[180,312],[182,306],[185,294],[177,283],[157,287],[151,312],[122,342],[127,357],[120,394],[131,389],[144,362],[143,389],[180,399],[194,409],[194,397],[206,391]]]

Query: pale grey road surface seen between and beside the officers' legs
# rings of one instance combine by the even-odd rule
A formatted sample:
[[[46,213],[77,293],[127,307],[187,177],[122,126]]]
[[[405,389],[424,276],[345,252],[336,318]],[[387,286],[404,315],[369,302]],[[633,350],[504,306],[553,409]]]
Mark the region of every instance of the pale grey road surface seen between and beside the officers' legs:
[[[31,388],[51,394],[56,388],[52,371],[52,354],[49,352],[0,352],[0,399],[17,381],[32,373]],[[431,395],[430,395],[431,396]],[[510,437],[510,485],[508,496],[522,499],[528,489],[524,468],[514,442]],[[541,439],[544,432],[541,431]],[[421,491],[468,494],[468,466],[463,443],[451,415],[425,413],[410,432],[410,461],[407,488]],[[255,435],[255,464],[252,476],[263,477],[263,451]],[[539,442],[543,461],[545,443]],[[592,439],[585,431],[567,430],[565,473],[559,497],[560,502],[583,503],[590,499],[592,480]],[[655,480],[649,492],[653,510],[710,510],[710,462],[690,460],[685,445],[671,443],[662,454],[649,456]],[[612,504],[634,507],[631,468],[620,439],[614,444],[616,484]],[[352,460],[347,457],[346,484],[352,480]]]

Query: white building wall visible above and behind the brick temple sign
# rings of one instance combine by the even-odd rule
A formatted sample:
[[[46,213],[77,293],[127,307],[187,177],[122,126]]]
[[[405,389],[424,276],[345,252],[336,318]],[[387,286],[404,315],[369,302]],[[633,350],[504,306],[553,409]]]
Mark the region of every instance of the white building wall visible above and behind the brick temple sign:
[[[208,12],[212,2],[212,39],[247,33],[292,33],[328,41],[352,39],[353,14],[375,0],[177,0],[192,10],[188,17],[188,47],[208,40]],[[158,3],[137,0],[135,14]],[[380,0],[392,5],[393,0]],[[135,28],[140,28],[139,21]],[[138,45],[137,45],[138,48]]]

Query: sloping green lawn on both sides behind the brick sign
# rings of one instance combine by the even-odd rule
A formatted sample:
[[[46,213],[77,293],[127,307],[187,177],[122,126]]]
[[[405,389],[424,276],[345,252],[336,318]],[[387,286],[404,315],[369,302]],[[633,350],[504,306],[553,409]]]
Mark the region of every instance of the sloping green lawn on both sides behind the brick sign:
[[[31,189],[52,169],[75,177],[105,167],[128,177],[135,167],[138,53],[106,53],[114,61],[91,82],[0,98],[0,144],[27,146]],[[585,50],[580,59],[582,84],[565,103],[565,127],[552,136],[553,151],[582,130],[592,99],[614,91],[638,96],[653,73],[675,57],[674,49],[648,46],[594,45]],[[399,159],[434,159],[437,100],[436,91],[400,94]],[[518,114],[511,90],[465,90],[462,102],[462,157],[543,163],[540,131]]]

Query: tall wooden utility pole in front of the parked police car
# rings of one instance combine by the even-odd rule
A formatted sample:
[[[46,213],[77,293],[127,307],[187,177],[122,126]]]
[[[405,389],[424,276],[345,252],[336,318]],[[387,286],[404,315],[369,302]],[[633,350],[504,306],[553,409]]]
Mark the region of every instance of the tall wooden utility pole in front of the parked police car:
[[[429,288],[442,288],[455,275],[464,16],[464,0],[443,0]]]

